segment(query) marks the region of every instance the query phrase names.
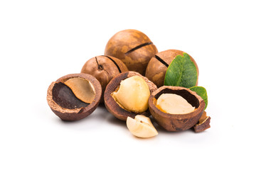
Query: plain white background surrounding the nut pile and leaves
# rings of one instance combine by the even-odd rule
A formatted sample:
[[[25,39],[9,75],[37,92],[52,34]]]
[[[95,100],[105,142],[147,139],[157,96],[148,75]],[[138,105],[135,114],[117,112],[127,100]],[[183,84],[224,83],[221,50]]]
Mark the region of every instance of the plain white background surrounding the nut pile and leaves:
[[[255,169],[253,1],[0,1],[0,169]],[[197,62],[211,128],[139,139],[102,106],[63,122],[52,81],[124,29]]]

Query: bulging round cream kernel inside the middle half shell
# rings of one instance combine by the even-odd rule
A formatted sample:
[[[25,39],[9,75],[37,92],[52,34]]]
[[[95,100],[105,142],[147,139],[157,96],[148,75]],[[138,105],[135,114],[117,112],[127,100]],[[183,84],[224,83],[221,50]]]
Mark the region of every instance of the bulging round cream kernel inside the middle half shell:
[[[149,86],[139,76],[122,80],[119,89],[112,93],[119,106],[134,113],[142,113],[148,109],[149,96]]]

